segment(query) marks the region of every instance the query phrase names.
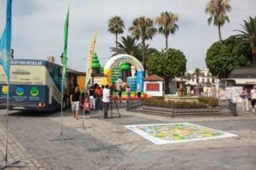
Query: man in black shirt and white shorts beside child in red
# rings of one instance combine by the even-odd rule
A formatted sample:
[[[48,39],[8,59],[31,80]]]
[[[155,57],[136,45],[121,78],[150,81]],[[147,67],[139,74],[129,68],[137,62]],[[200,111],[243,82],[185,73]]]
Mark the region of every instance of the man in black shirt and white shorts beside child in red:
[[[79,120],[80,92],[78,85],[75,86],[73,93],[70,95],[70,102],[72,105],[73,117]]]

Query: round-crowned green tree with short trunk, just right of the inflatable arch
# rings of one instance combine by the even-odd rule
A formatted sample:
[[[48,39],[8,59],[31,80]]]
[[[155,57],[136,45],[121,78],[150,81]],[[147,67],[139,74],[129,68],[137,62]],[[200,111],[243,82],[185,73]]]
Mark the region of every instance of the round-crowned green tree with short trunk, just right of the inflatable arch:
[[[168,94],[169,80],[183,76],[186,64],[185,55],[178,49],[169,48],[167,57],[165,52],[155,51],[149,55],[147,61],[148,74],[163,77],[166,81],[166,94]]]

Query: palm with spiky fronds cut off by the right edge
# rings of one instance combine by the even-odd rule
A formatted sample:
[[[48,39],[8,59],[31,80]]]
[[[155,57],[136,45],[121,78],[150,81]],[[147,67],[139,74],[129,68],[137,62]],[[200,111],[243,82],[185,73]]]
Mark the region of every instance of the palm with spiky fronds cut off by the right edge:
[[[243,20],[243,22],[244,25],[241,25],[241,34],[236,35],[236,37],[239,37],[242,41],[249,42],[251,44],[253,67],[256,67],[256,16],[254,18],[250,17],[248,20]]]

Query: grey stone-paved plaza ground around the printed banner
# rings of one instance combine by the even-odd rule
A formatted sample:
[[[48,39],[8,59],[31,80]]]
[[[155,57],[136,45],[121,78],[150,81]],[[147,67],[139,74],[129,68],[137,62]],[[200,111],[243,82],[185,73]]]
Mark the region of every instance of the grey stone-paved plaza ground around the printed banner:
[[[113,119],[92,111],[90,119],[76,121],[70,110],[61,113],[11,111],[9,161],[26,167],[6,169],[196,169],[254,170],[256,167],[256,116],[238,110],[239,116],[166,117],[120,109]],[[6,110],[0,110],[0,162],[4,163]],[[125,125],[190,122],[238,137],[175,144],[154,144]]]

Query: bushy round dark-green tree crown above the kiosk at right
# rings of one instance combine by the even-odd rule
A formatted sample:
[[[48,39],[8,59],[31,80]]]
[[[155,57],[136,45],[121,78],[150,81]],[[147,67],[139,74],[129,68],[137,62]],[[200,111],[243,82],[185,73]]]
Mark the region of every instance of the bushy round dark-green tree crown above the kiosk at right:
[[[228,77],[233,69],[252,65],[250,45],[241,43],[234,36],[223,42],[214,42],[207,50],[206,63],[212,76]]]

